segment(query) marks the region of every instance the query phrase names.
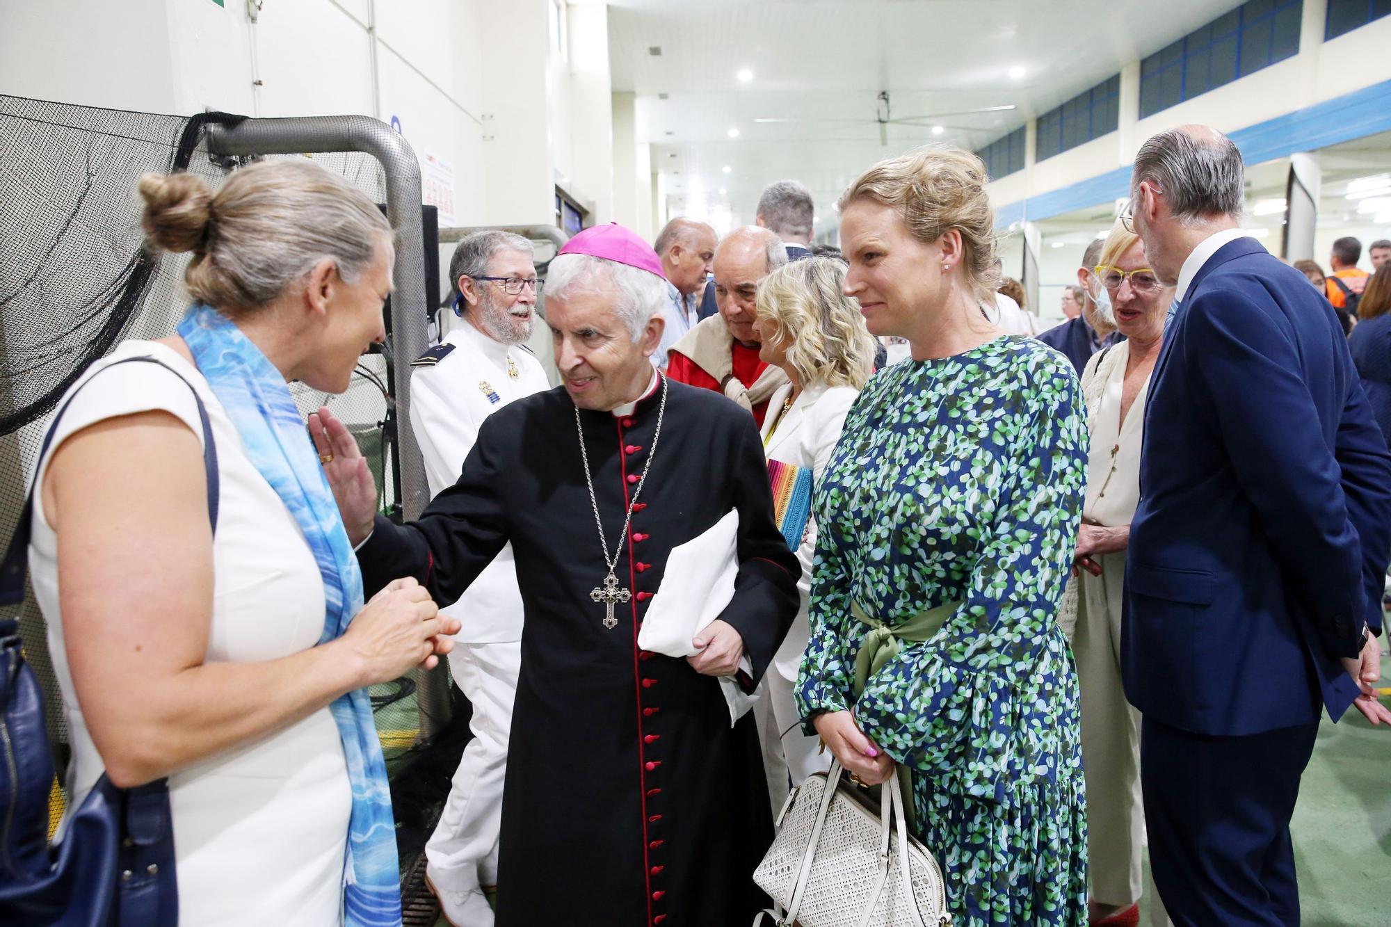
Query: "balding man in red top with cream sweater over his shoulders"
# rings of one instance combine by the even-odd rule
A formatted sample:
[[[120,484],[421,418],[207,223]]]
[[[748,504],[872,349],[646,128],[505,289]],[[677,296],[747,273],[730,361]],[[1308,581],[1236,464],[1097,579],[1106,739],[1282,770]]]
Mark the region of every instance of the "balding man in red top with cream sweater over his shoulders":
[[[758,283],[786,263],[782,239],[766,228],[746,225],[725,235],[715,249],[719,315],[686,333],[666,362],[672,380],[723,393],[753,412],[759,426],[787,374],[758,356]]]

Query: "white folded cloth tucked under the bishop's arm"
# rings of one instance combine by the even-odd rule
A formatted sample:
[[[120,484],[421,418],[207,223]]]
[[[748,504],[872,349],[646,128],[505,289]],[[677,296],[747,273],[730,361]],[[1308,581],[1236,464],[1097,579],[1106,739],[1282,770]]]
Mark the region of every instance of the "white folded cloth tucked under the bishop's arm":
[[[712,528],[672,548],[662,583],[637,632],[637,646],[668,657],[700,653],[693,642],[729,605],[737,575],[739,511],[732,508]],[[747,656],[739,665],[753,676],[754,665]],[[751,693],[733,676],[721,676],[719,685],[729,703],[729,727],[734,727],[758,699],[762,683]]]

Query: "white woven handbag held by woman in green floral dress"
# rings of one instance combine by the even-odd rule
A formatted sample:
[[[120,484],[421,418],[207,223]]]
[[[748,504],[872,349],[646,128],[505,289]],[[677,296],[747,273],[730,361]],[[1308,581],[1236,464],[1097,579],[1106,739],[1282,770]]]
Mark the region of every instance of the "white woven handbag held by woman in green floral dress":
[[[762,910],[778,927],[946,927],[946,885],[932,853],[908,835],[899,777],[881,789],[882,807],[849,784],[832,761],[787,796],[778,837],[754,881],[786,910]],[[904,871],[907,860],[907,873]]]

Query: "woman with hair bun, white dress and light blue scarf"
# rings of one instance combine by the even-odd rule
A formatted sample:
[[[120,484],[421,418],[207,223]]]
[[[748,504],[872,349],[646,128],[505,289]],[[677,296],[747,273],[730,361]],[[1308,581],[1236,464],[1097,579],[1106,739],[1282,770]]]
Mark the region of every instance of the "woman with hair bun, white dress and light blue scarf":
[[[458,622],[413,579],[363,605],[285,386],[341,393],[383,340],[391,230],[302,160],[242,168],[216,196],[191,174],[139,189],[150,244],[193,252],[195,305],[179,335],[92,365],[35,468],[29,564],[70,807],[103,771],[168,777],[181,924],[399,924],[364,688],[434,665]],[[115,363],[136,356],[160,363]]]

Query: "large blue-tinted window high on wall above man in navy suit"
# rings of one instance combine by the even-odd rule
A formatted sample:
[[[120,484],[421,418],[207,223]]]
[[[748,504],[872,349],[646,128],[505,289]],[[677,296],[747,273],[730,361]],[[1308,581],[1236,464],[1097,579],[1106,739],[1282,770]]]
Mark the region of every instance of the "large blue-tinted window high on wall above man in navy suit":
[[[1377,0],[1377,6],[1391,11],[1391,0]],[[1296,54],[1302,17],[1303,0],[1249,0],[1149,56],[1139,65],[1139,117]],[[1328,17],[1331,22],[1331,4]]]

